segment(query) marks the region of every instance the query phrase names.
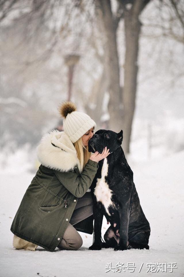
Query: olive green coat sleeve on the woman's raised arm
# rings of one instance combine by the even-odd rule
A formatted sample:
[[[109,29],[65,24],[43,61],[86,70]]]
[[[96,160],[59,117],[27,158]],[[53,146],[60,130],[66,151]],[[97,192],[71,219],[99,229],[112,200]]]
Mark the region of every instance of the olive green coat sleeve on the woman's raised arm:
[[[80,176],[75,171],[61,172],[54,170],[54,173],[69,192],[76,197],[82,197],[91,186],[98,167],[97,162],[89,159]]]

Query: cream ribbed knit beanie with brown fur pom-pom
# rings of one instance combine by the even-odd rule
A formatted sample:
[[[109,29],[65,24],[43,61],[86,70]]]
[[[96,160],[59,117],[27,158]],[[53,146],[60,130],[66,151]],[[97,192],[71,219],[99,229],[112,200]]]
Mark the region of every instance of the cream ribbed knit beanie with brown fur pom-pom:
[[[63,119],[64,132],[69,136],[72,143],[81,138],[96,123],[86,113],[76,111],[76,105],[71,101],[63,102],[59,107]]]

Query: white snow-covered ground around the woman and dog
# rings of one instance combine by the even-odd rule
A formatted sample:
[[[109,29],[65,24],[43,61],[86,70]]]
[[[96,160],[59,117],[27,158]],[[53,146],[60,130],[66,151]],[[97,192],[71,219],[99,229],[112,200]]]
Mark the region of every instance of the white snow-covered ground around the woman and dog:
[[[78,251],[56,250],[47,252],[39,247],[37,251],[16,250],[12,247],[13,234],[10,226],[26,188],[32,180],[30,173],[9,173],[1,171],[1,213],[0,213],[0,276],[1,277],[61,277],[61,276],[152,276],[147,272],[147,263],[177,263],[177,268],[158,271],[159,276],[184,276],[183,266],[183,170],[184,151],[168,158],[152,162],[129,162],[134,172],[134,182],[141,206],[150,222],[150,250],[126,250],[115,252],[112,248],[89,251],[93,235],[80,233],[83,246]],[[103,221],[102,232],[108,225]],[[134,263],[135,271],[125,267],[125,272],[108,271],[108,263]],[[141,272],[139,268],[142,266]],[[164,266],[164,265],[163,265]],[[158,267],[156,267],[158,270]],[[106,272],[108,271],[108,272]]]

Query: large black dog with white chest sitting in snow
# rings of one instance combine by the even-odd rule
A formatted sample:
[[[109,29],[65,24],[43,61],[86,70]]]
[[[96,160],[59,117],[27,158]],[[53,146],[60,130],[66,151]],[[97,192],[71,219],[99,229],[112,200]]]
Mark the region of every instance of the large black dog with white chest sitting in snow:
[[[121,147],[123,131],[98,130],[88,142],[89,152],[111,153],[98,162],[99,168],[91,184],[94,216],[94,243],[89,250],[114,247],[149,249],[150,224],[141,208],[133,182],[133,172]],[[103,216],[111,223],[101,242]],[[119,234],[117,231],[119,230]]]

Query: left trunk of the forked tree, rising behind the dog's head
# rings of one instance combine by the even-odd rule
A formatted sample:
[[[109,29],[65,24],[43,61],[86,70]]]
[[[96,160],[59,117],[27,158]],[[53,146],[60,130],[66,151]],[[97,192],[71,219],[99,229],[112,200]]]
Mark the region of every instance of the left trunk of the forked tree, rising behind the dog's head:
[[[96,8],[100,9],[99,16],[103,22],[106,36],[105,67],[107,72],[108,92],[110,100],[108,111],[110,114],[109,127],[115,132],[122,129],[123,111],[120,101],[119,61],[116,43],[116,29],[114,27],[110,0],[96,1]]]

